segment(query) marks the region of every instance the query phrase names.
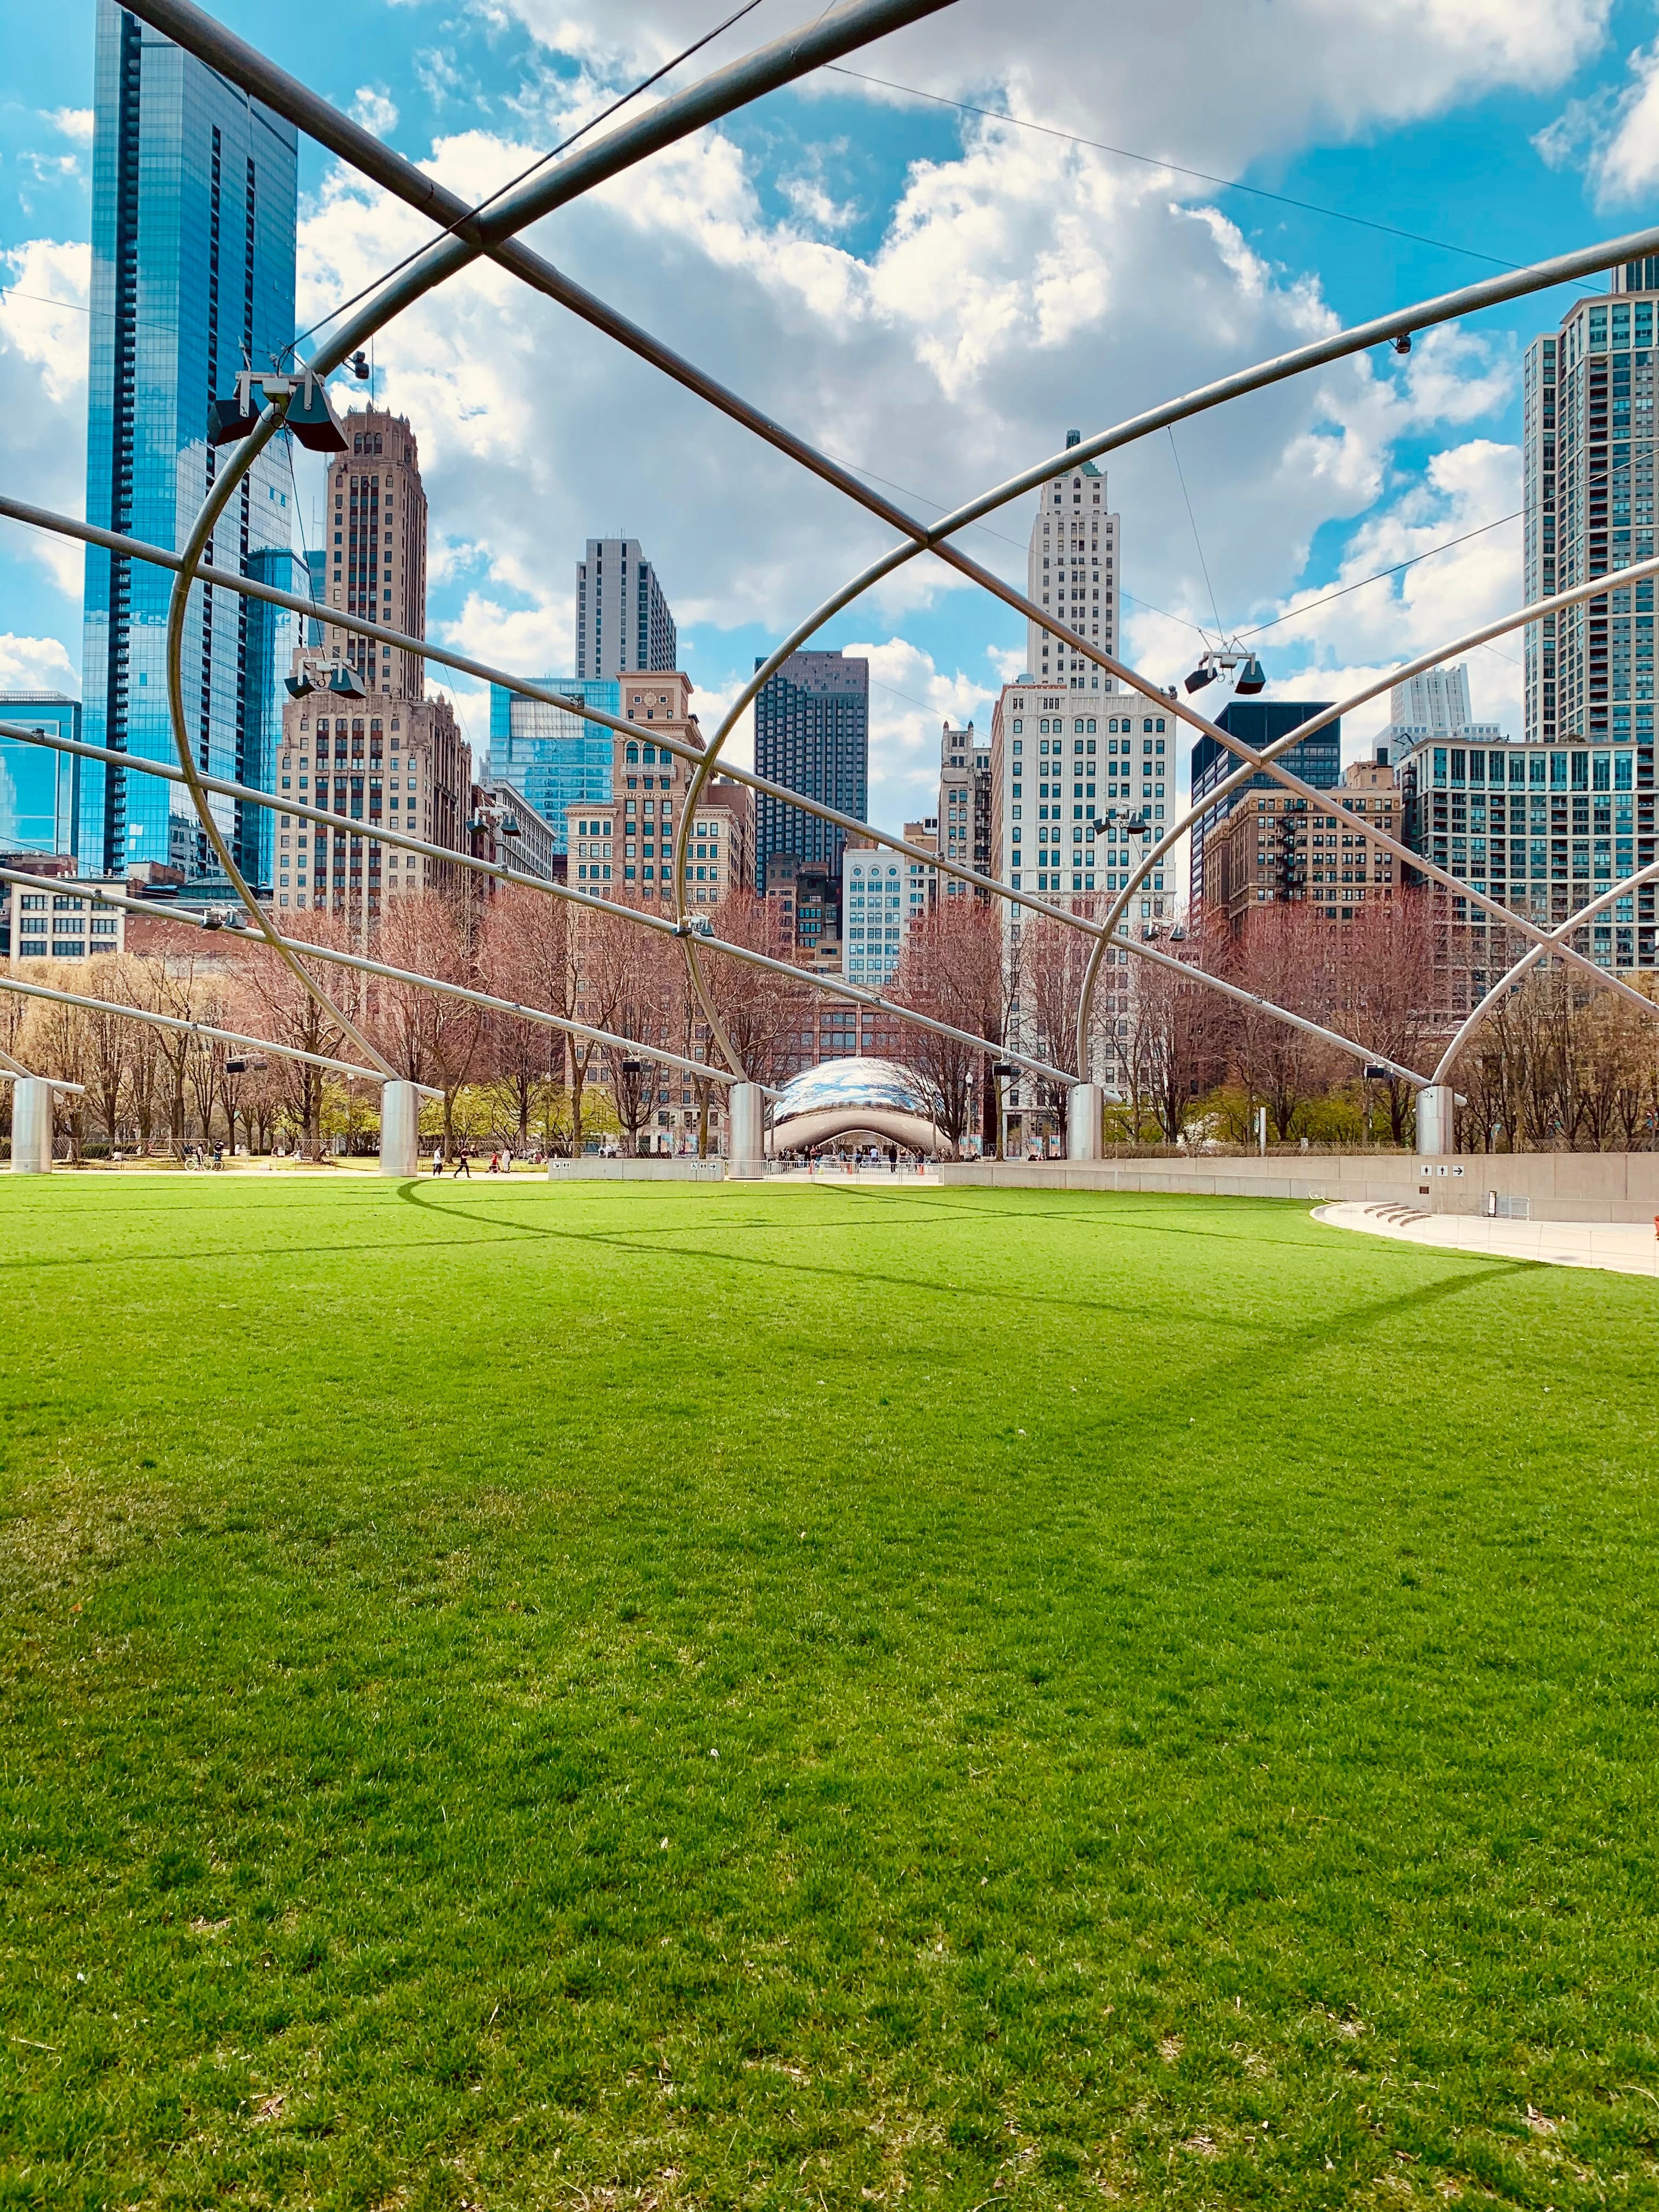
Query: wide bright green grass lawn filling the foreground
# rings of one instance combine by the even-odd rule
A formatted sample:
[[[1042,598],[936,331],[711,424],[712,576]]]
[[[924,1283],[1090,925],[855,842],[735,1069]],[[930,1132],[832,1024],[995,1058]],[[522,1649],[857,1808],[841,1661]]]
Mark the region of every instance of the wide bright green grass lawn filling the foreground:
[[[1655,1285],[0,1179],[0,2205],[1659,2203]]]

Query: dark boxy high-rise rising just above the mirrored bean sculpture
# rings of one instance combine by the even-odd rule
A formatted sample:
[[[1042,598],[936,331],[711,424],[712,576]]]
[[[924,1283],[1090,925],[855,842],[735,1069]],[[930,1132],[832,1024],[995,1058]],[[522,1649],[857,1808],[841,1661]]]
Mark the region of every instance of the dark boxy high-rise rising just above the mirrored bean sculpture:
[[[761,661],[754,664],[757,668]],[[805,799],[865,818],[869,805],[869,661],[792,653],[754,699],[754,768]],[[774,852],[841,874],[847,832],[783,799],[757,799],[754,887]]]

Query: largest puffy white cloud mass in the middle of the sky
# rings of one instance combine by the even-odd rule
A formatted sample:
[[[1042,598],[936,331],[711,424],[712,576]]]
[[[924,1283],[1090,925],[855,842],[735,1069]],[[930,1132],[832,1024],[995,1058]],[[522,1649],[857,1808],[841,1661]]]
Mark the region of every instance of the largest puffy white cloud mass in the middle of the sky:
[[[478,197],[526,146],[482,131],[440,142],[431,168]],[[763,219],[739,150],[710,133],[560,217],[560,259],[695,361],[827,451],[953,504],[1095,427],[1104,394],[1130,411],[1177,383],[1332,325],[1318,294],[1261,263],[1164,179],[989,131],[962,159],[920,164],[869,261]],[[1071,232],[1062,254],[1055,230]],[[427,234],[334,175],[303,228],[310,321]],[[1031,272],[1037,272],[1035,279]],[[1179,327],[1166,303],[1188,307]],[[790,628],[887,544],[838,495],[513,285],[473,270],[385,332],[383,392],[422,440],[434,515],[489,575],[568,606],[588,533],[626,526],[688,626]],[[1248,425],[1192,425],[1183,460],[1234,619],[1296,575],[1312,533],[1383,489],[1391,440],[1469,420],[1506,389],[1475,338],[1436,334],[1383,374],[1356,363],[1263,394]],[[1245,462],[1241,465],[1241,453]],[[1128,566],[1146,597],[1181,591],[1190,538],[1168,449],[1113,462]],[[1015,544],[973,538],[1022,577]],[[883,586],[894,619],[958,588],[936,562]]]

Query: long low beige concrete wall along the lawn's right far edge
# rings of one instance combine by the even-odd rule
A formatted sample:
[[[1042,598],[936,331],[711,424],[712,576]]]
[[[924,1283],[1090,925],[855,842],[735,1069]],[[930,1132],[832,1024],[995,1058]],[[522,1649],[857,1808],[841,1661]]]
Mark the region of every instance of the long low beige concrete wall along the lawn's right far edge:
[[[1188,1190],[1228,1199],[1398,1201],[1431,1214],[1484,1214],[1486,1192],[1526,1199],[1533,1221],[1652,1221],[1659,1152],[1310,1152],[1305,1159],[984,1159],[945,1164],[940,1183],[1024,1190]]]

